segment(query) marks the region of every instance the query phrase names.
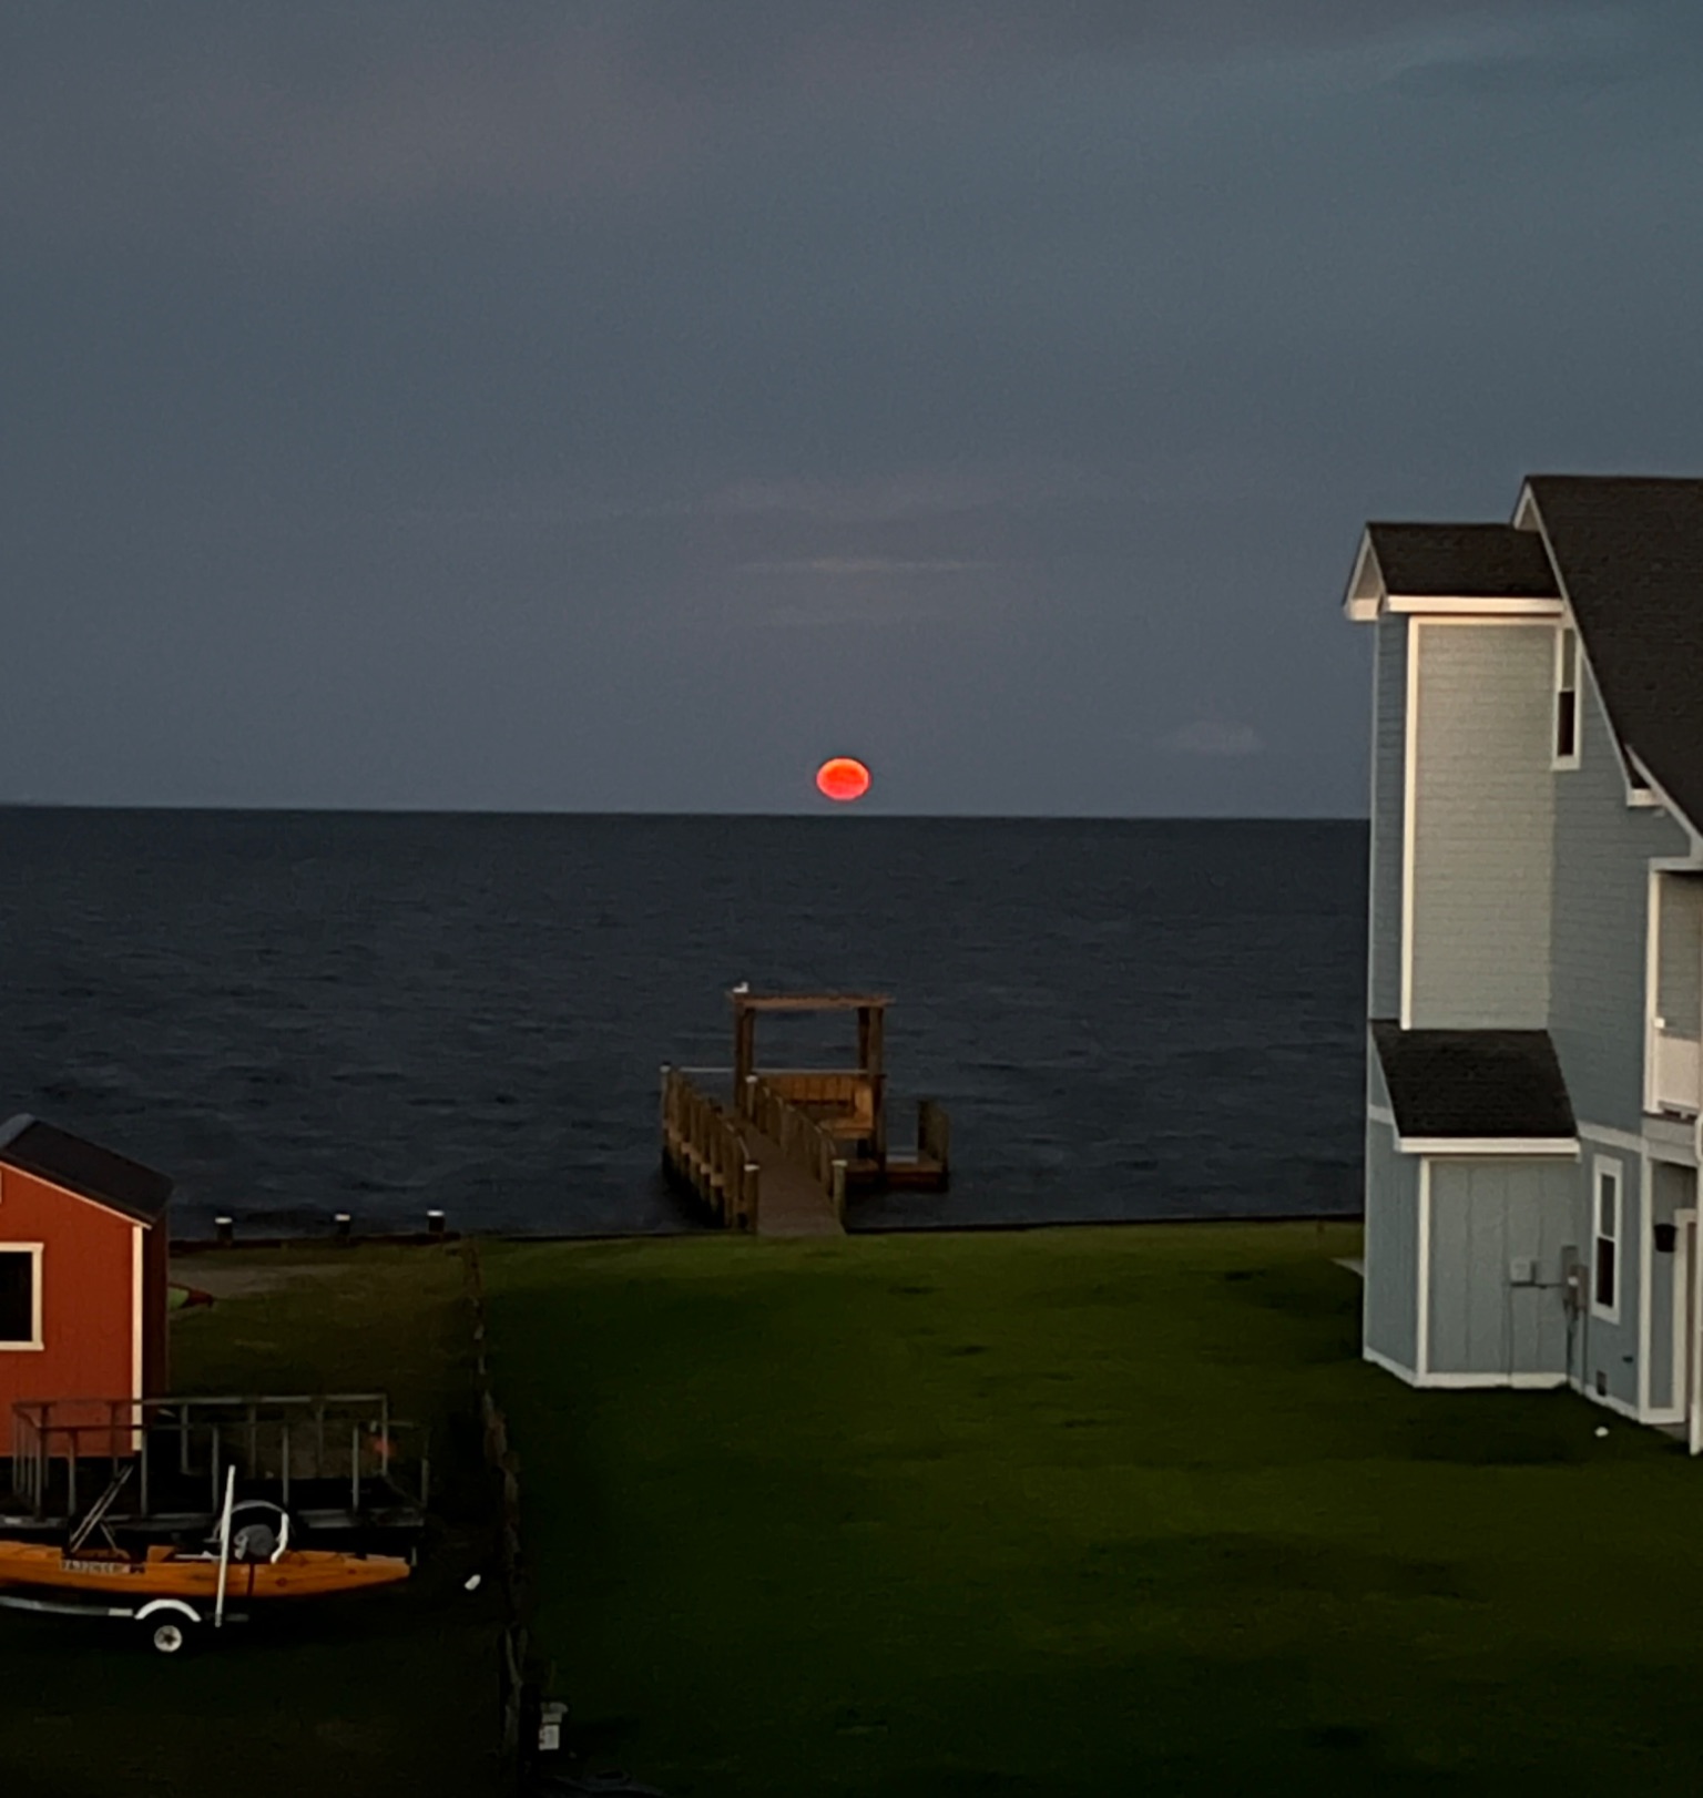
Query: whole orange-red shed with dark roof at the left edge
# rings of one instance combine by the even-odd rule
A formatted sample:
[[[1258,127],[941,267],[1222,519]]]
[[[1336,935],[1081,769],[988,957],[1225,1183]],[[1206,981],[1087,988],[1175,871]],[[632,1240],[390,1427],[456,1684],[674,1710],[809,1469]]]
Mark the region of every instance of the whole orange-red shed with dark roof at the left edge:
[[[32,1117],[0,1126],[0,1455],[14,1453],[20,1401],[92,1424],[111,1401],[165,1392],[169,1197],[164,1174],[99,1144]],[[95,1408],[83,1417],[74,1401]]]

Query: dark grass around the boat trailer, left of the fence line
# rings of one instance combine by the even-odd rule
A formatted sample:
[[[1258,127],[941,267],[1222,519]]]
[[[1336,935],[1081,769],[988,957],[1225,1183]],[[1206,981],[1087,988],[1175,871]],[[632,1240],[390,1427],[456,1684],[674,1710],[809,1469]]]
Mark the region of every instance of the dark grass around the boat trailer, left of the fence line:
[[[433,1426],[451,1512],[473,1496],[469,1318],[442,1250],[232,1251],[191,1264],[311,1269],[173,1314],[182,1392],[388,1386]],[[210,1277],[209,1277],[210,1278]],[[165,1660],[135,1625],[0,1615],[7,1798],[435,1798],[495,1789],[496,1647],[460,1580],[482,1555],[439,1530],[406,1586],[268,1616]]]

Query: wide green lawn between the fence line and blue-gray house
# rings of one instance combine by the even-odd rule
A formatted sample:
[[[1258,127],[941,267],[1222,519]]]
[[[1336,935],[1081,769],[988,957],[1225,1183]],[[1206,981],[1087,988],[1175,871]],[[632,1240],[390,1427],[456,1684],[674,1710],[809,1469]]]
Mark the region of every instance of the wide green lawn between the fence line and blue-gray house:
[[[493,1244],[577,1748],[700,1798],[1698,1789],[1703,1465],[1369,1368],[1356,1246]]]

